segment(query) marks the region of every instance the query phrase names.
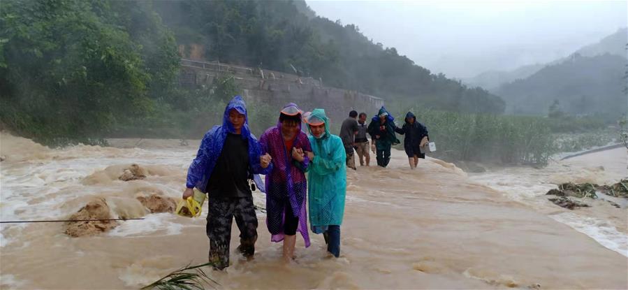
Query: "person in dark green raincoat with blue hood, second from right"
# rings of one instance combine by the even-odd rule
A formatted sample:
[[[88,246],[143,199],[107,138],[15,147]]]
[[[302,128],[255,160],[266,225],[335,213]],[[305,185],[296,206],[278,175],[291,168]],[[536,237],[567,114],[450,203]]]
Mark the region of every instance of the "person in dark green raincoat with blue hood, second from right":
[[[377,154],[377,165],[388,166],[390,162],[390,148],[393,144],[399,144],[395,136],[395,118],[381,106],[369,124],[368,131],[371,136],[371,149]]]

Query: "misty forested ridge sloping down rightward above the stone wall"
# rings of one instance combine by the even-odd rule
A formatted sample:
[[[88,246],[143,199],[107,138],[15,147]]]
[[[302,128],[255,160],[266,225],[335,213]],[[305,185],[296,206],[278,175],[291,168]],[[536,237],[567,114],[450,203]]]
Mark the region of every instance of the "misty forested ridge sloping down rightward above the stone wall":
[[[316,17],[305,1],[155,1],[180,44],[203,58],[321,78],[324,85],[426,108],[502,113],[504,101],[432,74],[395,48],[364,36],[353,24]],[[463,65],[463,64],[461,64]]]

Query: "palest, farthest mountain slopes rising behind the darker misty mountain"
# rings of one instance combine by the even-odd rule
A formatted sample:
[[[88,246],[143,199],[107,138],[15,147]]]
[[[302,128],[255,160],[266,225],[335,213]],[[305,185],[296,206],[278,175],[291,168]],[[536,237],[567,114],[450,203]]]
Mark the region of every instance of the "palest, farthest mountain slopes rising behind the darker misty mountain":
[[[583,57],[594,57],[608,53],[626,58],[626,43],[628,43],[628,28],[624,27],[615,31],[614,34],[602,38],[598,43],[586,45],[574,53],[578,53]],[[527,78],[545,66],[559,64],[567,59],[569,59],[569,57],[557,59],[548,64],[530,64],[516,68],[513,71],[486,71],[474,76],[473,78],[464,79],[462,82],[473,86],[483,87],[484,89],[488,89],[489,92],[495,92],[500,85],[513,82],[514,80]]]

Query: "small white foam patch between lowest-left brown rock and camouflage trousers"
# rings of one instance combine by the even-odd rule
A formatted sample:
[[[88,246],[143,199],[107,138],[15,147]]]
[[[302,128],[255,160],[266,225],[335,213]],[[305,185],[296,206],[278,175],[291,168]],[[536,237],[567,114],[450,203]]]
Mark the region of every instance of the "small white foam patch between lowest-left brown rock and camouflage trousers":
[[[147,215],[145,219],[120,222],[121,224],[112,229],[108,235],[138,237],[153,235],[156,232],[163,232],[162,235],[178,235],[181,233],[183,225],[173,222],[175,219],[177,219],[177,216],[169,212]]]

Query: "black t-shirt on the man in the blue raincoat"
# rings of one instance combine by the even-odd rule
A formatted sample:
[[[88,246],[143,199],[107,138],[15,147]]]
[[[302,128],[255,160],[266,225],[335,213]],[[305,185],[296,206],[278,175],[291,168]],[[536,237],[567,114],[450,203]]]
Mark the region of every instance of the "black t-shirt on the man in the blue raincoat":
[[[249,188],[249,142],[242,135],[227,134],[220,157],[207,182],[209,196],[251,196]]]

